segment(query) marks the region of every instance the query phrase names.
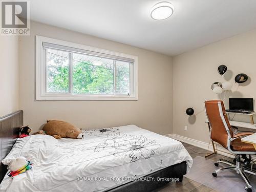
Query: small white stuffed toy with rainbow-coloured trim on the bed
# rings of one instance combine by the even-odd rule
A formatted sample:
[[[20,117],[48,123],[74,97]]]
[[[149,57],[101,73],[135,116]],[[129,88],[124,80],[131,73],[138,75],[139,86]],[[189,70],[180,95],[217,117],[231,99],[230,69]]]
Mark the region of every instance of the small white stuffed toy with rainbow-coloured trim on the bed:
[[[10,170],[8,176],[14,177],[22,174],[26,172],[26,170],[31,169],[31,165],[32,163],[30,163],[30,161],[28,161],[25,157],[20,156],[18,158],[14,158],[8,163],[8,169]]]

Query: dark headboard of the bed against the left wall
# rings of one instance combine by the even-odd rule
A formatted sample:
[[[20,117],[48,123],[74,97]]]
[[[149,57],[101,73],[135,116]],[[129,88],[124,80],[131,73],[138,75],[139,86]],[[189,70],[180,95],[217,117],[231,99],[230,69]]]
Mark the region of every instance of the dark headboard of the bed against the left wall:
[[[23,111],[16,111],[0,117],[0,160],[2,161],[11,151],[19,136],[19,127],[23,126]],[[7,172],[7,166],[0,162],[0,182]]]

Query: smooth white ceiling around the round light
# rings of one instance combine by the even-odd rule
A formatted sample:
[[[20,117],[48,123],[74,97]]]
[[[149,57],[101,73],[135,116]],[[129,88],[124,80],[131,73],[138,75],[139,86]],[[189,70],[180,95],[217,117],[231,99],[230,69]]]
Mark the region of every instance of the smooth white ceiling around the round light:
[[[31,20],[167,55],[256,28],[255,0],[170,0],[174,15],[156,21],[160,1],[31,0]]]

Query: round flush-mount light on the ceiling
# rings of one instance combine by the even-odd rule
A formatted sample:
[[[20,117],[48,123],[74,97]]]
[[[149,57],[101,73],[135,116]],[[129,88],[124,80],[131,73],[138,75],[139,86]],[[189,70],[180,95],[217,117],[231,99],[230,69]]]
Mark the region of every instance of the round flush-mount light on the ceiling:
[[[155,20],[164,20],[172,16],[174,6],[169,2],[160,2],[151,8],[150,16]]]

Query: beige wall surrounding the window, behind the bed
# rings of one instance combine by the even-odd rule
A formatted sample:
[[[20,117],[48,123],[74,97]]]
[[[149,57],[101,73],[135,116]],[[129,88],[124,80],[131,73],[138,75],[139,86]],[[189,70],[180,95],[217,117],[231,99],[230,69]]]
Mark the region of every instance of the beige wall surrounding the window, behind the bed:
[[[19,80],[20,108],[33,131],[47,119],[62,119],[84,129],[136,124],[159,134],[172,133],[172,57],[35,22],[30,33],[20,36]],[[35,35],[137,55],[139,100],[36,101]]]

